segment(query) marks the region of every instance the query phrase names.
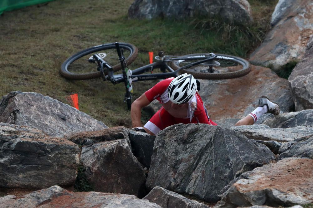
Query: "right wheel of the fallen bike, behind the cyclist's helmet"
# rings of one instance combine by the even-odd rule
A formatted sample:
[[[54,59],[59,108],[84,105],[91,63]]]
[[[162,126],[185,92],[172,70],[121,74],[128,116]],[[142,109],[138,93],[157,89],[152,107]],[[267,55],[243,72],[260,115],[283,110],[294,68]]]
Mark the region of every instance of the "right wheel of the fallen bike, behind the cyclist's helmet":
[[[247,60],[225,54],[215,55],[216,57],[208,62],[182,69],[182,73],[191,74],[196,79],[224,80],[247,75],[251,70]],[[208,59],[209,57],[210,55],[207,53],[178,56],[172,58],[169,65],[174,70],[177,70],[183,66]]]

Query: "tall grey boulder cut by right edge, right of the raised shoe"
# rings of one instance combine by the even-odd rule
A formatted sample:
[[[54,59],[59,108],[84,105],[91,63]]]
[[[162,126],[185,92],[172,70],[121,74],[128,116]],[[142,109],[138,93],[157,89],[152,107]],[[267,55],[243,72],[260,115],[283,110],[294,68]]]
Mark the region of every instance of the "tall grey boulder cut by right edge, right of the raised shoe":
[[[288,80],[295,110],[313,109],[313,36],[302,61],[295,66]]]

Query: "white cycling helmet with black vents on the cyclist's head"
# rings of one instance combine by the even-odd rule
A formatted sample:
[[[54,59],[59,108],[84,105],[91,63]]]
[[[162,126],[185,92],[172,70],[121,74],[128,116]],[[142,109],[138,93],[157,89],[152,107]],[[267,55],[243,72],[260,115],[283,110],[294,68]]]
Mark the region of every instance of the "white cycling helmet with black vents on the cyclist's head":
[[[190,101],[197,91],[197,81],[192,75],[182,74],[172,80],[167,89],[170,100],[176,104]]]

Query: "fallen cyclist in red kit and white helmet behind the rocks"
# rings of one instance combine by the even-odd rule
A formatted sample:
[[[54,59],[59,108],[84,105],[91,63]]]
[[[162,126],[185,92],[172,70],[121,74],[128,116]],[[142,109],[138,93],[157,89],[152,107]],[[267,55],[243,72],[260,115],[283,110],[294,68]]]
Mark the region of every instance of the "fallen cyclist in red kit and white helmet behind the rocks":
[[[141,109],[157,99],[162,108],[142,127]],[[259,107],[235,125],[254,124],[264,113],[279,114],[279,105],[265,96],[259,98]],[[154,85],[131,104],[133,129],[151,135],[176,123],[207,123],[217,125],[208,116],[207,109],[198,94],[197,82],[192,75],[182,74],[167,78]]]

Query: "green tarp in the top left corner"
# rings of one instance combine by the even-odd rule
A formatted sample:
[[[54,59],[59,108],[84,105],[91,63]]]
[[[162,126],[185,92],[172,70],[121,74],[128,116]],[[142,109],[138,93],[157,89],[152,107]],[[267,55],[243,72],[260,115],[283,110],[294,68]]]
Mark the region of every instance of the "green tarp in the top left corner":
[[[0,0],[0,14],[4,11],[11,11],[34,4],[50,2],[53,0]]]

